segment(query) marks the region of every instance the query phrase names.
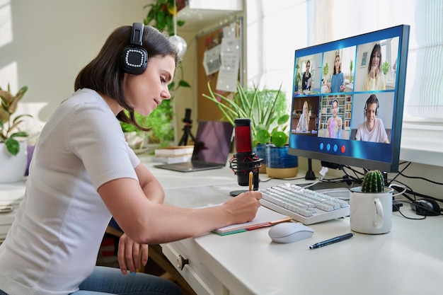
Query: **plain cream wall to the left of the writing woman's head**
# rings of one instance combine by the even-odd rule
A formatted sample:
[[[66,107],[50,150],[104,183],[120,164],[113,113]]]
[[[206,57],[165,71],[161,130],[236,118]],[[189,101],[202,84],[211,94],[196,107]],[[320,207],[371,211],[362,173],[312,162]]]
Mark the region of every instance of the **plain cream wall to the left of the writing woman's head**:
[[[46,122],[120,25],[142,22],[146,0],[0,0],[0,86],[29,87],[23,103]],[[24,107],[24,106],[23,106]],[[25,110],[26,112],[37,112]]]

